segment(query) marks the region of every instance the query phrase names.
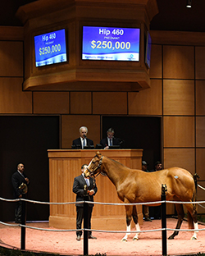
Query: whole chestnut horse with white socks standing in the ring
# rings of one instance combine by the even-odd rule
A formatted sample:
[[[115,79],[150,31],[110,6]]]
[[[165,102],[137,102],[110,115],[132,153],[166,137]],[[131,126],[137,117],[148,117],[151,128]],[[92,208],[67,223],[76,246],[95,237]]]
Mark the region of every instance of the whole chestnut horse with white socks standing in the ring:
[[[189,171],[179,167],[153,172],[133,170],[97,152],[84,174],[85,176],[94,176],[101,171],[106,173],[108,178],[116,186],[116,193],[124,203],[161,201],[162,184],[167,187],[166,200],[174,199],[180,202],[194,202],[195,199],[194,178]],[[197,231],[195,230],[198,230],[196,207],[194,203],[185,203],[185,207],[188,210],[189,228],[194,228],[192,240],[196,240]],[[180,229],[183,218],[185,217],[183,204],[175,203],[175,209],[178,213],[178,222],[175,229]],[[126,231],[130,231],[132,217],[136,230],[140,231],[136,206],[125,205],[125,213]],[[174,231],[169,239],[174,239],[178,233],[179,231]],[[127,241],[128,235],[130,233],[126,233],[122,240]],[[134,235],[133,240],[139,240],[139,232]]]

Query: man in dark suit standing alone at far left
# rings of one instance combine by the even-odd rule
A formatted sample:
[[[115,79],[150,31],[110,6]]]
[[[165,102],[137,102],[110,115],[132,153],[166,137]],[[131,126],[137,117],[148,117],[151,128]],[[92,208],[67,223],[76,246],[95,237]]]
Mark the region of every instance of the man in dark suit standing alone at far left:
[[[27,192],[26,187],[30,184],[30,180],[25,176],[25,166],[23,163],[17,165],[17,171],[11,176],[11,182],[14,188],[15,199],[25,198],[25,193]],[[21,184],[25,184],[21,187]],[[22,216],[22,201],[16,203],[15,209],[15,222],[21,223]]]

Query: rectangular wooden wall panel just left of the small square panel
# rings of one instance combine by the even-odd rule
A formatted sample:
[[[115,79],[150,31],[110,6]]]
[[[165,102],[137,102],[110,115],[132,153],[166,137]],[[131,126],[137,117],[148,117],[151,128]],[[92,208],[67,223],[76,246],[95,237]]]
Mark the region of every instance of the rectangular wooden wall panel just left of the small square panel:
[[[34,114],[61,113],[69,113],[69,93],[34,92]]]

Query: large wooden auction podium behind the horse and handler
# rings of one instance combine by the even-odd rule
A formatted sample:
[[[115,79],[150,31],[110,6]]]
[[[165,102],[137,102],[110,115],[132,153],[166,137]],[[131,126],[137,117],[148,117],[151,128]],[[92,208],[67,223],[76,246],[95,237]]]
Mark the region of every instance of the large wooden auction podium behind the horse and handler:
[[[143,149],[49,149],[50,202],[75,202],[72,192],[75,176],[81,174],[81,166],[89,164],[99,151],[108,158],[121,162],[131,169],[142,167]],[[116,188],[107,176],[96,178],[98,193],[95,202],[122,203],[116,194]],[[143,222],[142,207],[137,206],[139,223]],[[75,229],[75,204],[51,204],[49,226],[60,229]],[[101,230],[125,230],[125,206],[100,205],[93,207],[92,228]],[[133,226],[133,224],[132,224]]]

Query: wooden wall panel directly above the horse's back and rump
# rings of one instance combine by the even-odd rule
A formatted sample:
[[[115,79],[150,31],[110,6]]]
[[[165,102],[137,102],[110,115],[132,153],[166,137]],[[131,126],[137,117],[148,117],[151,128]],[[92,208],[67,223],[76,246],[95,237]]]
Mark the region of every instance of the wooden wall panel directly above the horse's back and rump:
[[[164,149],[164,168],[181,167],[195,173],[194,149]]]

